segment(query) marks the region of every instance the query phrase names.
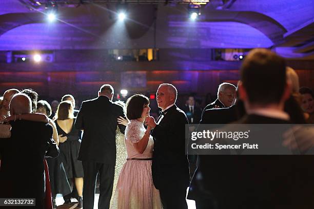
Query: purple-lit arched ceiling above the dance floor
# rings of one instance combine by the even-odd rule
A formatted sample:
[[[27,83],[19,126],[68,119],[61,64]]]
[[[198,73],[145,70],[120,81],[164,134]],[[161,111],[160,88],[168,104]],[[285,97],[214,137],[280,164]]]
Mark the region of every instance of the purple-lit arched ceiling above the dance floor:
[[[143,0],[141,5],[129,5],[132,20],[124,28],[117,26],[115,19],[109,18],[113,14],[111,11],[115,10],[114,4],[83,4],[78,7],[69,4],[75,1],[77,2],[68,0],[68,5],[59,6],[59,18],[62,22],[51,26],[56,30],[64,30],[64,33],[54,32],[53,34],[61,35],[59,39],[54,38],[62,41],[60,38],[66,37],[68,42],[72,41],[65,45],[70,48],[111,48],[115,47],[112,44],[114,40],[111,39],[121,38],[123,41],[117,41],[116,48],[128,45],[130,48],[272,47],[298,57],[311,55],[314,50],[314,0],[212,0],[207,5],[202,5],[202,15],[197,23],[188,22],[187,5],[178,4],[181,1],[165,1],[164,4],[156,5],[152,3],[162,1],[145,0],[144,4]],[[47,28],[41,13],[44,12],[44,6],[35,7],[30,3],[34,1],[2,2],[0,50],[13,50],[14,46],[23,47],[16,38],[19,34],[21,37],[28,37],[30,42],[32,35],[41,34],[34,36],[36,40],[33,40],[33,44],[45,45],[45,39],[49,37],[51,30],[44,30]],[[109,32],[113,34],[108,34]],[[75,34],[81,36],[81,46],[80,41],[74,41],[80,38]],[[8,43],[11,43],[11,49]],[[51,44],[46,48],[49,46]],[[29,46],[26,44],[25,47]]]

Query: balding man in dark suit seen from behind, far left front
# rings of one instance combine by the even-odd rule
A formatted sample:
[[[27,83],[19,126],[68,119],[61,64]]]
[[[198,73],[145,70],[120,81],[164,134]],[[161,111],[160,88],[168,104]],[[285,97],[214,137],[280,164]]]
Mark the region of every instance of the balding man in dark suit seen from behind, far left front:
[[[18,93],[10,102],[10,114],[31,112],[31,100],[26,94]],[[49,123],[27,120],[10,122],[11,138],[0,140],[2,164],[0,169],[1,198],[35,198],[35,206],[44,208],[45,171],[44,159],[56,157],[58,147],[52,139]]]

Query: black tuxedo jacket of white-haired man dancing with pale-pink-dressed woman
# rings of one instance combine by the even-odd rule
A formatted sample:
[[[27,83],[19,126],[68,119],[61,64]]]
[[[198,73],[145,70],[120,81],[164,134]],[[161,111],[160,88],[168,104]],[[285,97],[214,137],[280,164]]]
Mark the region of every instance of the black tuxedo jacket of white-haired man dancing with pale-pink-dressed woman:
[[[189,163],[185,154],[185,113],[175,105],[152,130],[154,150],[152,177],[156,189],[189,185]]]

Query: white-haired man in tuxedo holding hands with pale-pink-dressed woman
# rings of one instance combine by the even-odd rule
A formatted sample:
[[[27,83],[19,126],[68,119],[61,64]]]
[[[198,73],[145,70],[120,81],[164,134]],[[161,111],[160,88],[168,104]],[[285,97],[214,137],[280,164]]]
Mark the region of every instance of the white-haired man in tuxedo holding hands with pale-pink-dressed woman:
[[[162,83],[156,93],[161,116],[155,122],[147,117],[145,123],[153,130],[153,182],[160,191],[165,209],[187,208],[186,190],[189,185],[189,164],[185,154],[185,113],[175,105],[178,91],[169,83]]]

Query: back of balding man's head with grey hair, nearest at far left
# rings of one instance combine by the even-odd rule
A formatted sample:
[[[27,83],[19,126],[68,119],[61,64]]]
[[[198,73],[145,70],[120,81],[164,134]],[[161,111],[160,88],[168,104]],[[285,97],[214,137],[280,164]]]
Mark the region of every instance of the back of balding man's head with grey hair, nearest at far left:
[[[14,114],[26,114],[32,112],[32,101],[24,93],[17,93],[11,99],[10,112]]]

